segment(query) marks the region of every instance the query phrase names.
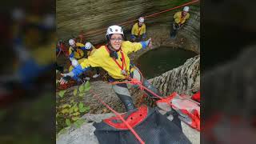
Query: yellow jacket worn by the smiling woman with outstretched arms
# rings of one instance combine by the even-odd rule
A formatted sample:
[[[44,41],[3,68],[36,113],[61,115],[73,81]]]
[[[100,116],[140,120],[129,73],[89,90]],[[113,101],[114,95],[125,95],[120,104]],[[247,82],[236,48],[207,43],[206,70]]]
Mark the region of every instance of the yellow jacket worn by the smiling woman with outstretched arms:
[[[124,55],[125,63],[124,63],[124,70],[126,70],[128,73],[130,73],[130,58],[128,58],[128,54],[135,52],[137,50],[142,49],[142,44],[139,42],[122,42],[121,50]],[[121,50],[117,52],[118,59],[116,61],[119,63],[120,66],[122,66],[122,54]],[[102,67],[104,70],[110,74],[112,78],[115,79],[125,79],[126,76],[124,76],[121,73],[121,68],[117,65],[116,62],[114,62],[114,59],[110,57],[110,53],[106,50],[106,46],[101,46],[100,48],[96,49],[94,51],[94,54],[91,54],[90,57],[86,58],[81,63],[82,69],[86,69],[89,66],[92,67]]]

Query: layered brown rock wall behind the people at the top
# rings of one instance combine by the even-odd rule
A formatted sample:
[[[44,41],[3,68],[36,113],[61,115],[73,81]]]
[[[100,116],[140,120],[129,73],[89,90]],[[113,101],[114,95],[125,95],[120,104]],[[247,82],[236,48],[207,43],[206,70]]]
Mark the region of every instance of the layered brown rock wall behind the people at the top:
[[[141,16],[148,16],[163,10],[174,8],[186,3],[186,0],[58,0],[56,3],[58,38],[67,40],[78,36],[81,30],[85,31],[86,41],[98,44],[105,42],[106,28],[111,25],[120,25],[125,30],[127,38],[130,30]],[[179,34],[182,38],[196,43],[199,46],[200,38],[200,7],[199,2],[190,6],[190,19],[186,22],[183,30]],[[174,13],[181,8],[170,10],[162,14],[153,15],[146,18],[146,29],[162,27],[162,30],[170,35],[170,25],[173,22]],[[152,34],[148,34],[149,37]],[[190,48],[188,48],[190,49]],[[199,47],[195,48],[199,53]]]

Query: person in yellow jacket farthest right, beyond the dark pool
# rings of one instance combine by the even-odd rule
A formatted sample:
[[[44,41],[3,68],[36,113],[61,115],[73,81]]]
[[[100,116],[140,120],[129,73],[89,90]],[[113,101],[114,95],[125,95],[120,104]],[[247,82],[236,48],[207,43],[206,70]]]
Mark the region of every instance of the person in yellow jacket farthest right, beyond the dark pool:
[[[190,14],[188,13],[190,10],[189,6],[185,6],[183,11],[178,11],[174,14],[174,23],[173,30],[170,32],[170,38],[175,38],[178,30],[184,26],[184,23],[188,18],[190,18]]]

